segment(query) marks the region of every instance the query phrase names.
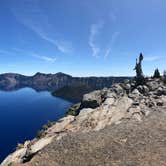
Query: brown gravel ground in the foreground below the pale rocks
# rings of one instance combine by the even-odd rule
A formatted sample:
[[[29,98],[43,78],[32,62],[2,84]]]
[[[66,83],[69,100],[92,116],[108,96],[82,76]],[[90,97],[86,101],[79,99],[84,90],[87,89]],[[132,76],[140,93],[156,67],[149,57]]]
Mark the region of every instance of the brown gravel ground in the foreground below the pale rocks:
[[[38,153],[25,166],[166,166],[166,111],[142,122],[124,120],[103,130],[73,133]]]

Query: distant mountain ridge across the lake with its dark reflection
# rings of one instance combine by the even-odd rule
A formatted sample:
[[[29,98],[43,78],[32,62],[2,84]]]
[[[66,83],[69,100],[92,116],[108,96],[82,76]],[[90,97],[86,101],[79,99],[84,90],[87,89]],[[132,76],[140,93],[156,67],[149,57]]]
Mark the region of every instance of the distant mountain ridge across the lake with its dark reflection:
[[[36,91],[55,91],[65,86],[85,85],[92,89],[110,87],[112,83],[118,83],[131,77],[72,77],[65,73],[44,74],[36,73],[33,76],[24,76],[17,73],[5,73],[0,75],[0,89],[5,91],[30,87]]]

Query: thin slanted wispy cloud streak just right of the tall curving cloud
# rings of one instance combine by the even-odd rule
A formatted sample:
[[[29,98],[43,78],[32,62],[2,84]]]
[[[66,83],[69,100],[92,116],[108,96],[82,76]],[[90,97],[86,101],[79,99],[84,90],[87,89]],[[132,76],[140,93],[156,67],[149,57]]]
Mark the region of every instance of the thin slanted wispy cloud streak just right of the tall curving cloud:
[[[116,42],[117,38],[119,37],[119,35],[120,35],[120,32],[114,32],[113,33],[113,35],[111,37],[110,44],[109,44],[108,48],[105,51],[104,58],[107,58],[110,55],[110,53],[113,49],[112,47],[113,47],[114,43]]]

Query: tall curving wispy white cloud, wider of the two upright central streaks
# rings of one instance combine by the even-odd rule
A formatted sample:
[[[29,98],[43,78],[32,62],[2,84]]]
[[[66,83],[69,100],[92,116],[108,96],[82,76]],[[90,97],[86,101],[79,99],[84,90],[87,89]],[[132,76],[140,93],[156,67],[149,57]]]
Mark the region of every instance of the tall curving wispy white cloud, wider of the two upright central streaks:
[[[100,30],[103,28],[104,23],[98,22],[97,24],[92,24],[90,27],[90,36],[89,36],[89,46],[92,49],[92,55],[98,57],[100,48],[96,45],[96,36],[100,33]]]

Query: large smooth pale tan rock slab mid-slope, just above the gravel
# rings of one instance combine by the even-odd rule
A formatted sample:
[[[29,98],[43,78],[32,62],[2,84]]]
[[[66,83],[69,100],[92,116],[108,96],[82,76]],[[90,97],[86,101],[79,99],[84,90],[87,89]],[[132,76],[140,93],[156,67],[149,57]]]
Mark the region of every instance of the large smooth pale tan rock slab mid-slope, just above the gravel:
[[[127,96],[116,100],[106,100],[99,108],[84,108],[76,117],[77,125],[81,131],[100,130],[107,125],[116,124],[121,119],[127,117],[127,110],[131,107],[133,101]]]

